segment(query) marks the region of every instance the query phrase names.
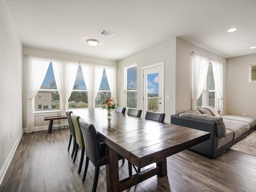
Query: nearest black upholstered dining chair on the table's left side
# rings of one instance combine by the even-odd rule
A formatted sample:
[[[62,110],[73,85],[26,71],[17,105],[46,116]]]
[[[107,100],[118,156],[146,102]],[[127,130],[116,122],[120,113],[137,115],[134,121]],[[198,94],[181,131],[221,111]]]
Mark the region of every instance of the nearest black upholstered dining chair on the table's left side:
[[[106,165],[106,149],[105,149],[106,144],[104,142],[100,142],[98,137],[98,132],[96,131],[93,124],[89,124],[82,118],[79,119],[79,124],[82,131],[82,136],[84,139],[84,146],[86,151],[86,162],[85,162],[83,182],[86,178],[86,173],[87,173],[88,164],[90,160],[95,167],[92,192],[96,192],[100,167]],[[123,157],[118,155],[118,159],[121,160],[123,159]],[[131,168],[129,167],[129,169]]]

